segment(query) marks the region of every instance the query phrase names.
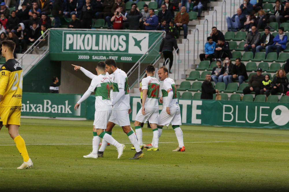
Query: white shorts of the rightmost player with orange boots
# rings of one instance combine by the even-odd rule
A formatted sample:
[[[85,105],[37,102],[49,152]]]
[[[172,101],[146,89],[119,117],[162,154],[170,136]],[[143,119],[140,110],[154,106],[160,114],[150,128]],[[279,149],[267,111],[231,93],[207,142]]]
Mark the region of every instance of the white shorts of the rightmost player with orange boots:
[[[180,109],[170,109],[171,115],[166,113],[166,108],[164,108],[159,115],[158,125],[168,126],[170,123],[172,125],[181,125],[181,110]]]

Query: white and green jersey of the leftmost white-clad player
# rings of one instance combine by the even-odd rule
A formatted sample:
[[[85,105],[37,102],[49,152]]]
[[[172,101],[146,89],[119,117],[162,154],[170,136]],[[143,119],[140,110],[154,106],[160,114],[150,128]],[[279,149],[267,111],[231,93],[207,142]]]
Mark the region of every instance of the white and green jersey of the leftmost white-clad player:
[[[105,74],[95,76],[92,79],[88,90],[95,92],[95,111],[112,110],[110,84],[109,77]]]

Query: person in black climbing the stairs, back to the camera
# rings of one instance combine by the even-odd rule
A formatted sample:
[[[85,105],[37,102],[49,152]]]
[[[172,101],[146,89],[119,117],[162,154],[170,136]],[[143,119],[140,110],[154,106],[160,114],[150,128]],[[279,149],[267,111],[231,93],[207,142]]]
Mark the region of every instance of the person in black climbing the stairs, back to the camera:
[[[172,73],[171,69],[172,69],[173,60],[174,60],[174,56],[173,56],[174,48],[175,50],[177,50],[177,54],[179,55],[177,40],[175,39],[174,34],[172,32],[168,32],[160,45],[160,54],[162,53],[164,56],[165,61],[164,61],[163,66],[166,66],[166,59],[170,60],[169,73]]]

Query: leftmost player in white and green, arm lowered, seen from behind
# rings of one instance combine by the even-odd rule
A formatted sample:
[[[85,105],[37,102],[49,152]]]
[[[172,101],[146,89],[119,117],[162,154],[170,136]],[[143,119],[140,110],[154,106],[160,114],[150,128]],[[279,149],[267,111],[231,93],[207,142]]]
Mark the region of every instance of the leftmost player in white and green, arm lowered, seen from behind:
[[[93,77],[88,90],[75,104],[77,110],[81,102],[86,100],[92,92],[95,92],[95,120],[93,122],[92,152],[84,155],[84,158],[98,158],[100,138],[110,142],[118,151],[118,159],[123,155],[125,145],[118,143],[110,134],[104,132],[112,113],[112,102],[110,100],[110,80],[105,75],[105,62],[98,62],[96,67],[97,75]]]

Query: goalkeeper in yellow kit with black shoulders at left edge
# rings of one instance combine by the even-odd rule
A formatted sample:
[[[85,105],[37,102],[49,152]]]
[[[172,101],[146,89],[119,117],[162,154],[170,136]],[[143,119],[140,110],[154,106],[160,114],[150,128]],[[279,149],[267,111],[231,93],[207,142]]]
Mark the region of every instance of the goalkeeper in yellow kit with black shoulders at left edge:
[[[23,164],[17,169],[27,169],[33,166],[29,158],[25,141],[19,135],[22,100],[23,70],[13,56],[15,43],[4,40],[2,44],[2,56],[5,64],[0,71],[0,130],[5,125],[11,138],[16,143],[19,153],[23,157]]]

